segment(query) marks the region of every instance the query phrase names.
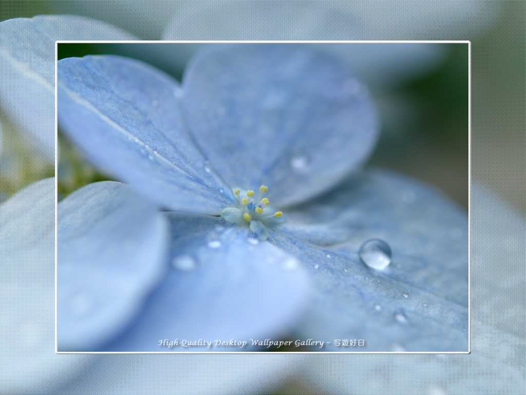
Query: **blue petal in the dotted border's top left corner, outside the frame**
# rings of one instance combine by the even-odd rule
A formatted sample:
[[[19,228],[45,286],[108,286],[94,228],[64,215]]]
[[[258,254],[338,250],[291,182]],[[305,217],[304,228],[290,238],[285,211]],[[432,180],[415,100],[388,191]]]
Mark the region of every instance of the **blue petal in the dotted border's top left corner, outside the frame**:
[[[0,22],[0,98],[50,160],[55,157],[55,41],[133,39],[116,27],[74,16]]]

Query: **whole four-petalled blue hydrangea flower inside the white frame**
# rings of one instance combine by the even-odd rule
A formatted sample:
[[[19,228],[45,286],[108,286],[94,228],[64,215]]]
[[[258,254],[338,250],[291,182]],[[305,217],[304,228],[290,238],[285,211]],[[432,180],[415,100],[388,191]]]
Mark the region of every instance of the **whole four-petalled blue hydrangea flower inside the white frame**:
[[[173,265],[140,317],[118,339],[100,332],[69,347],[159,351],[154,339],[176,328],[187,339],[288,331],[324,341],[323,351],[349,351],[337,339],[363,339],[365,351],[468,351],[466,215],[406,177],[349,176],[378,128],[345,62],[306,45],[211,47],[178,84],[138,61],[87,56],[59,61],[57,87],[60,127],[104,171],[173,211]],[[59,228],[70,222],[59,217]],[[360,259],[370,239],[394,251],[386,270]]]

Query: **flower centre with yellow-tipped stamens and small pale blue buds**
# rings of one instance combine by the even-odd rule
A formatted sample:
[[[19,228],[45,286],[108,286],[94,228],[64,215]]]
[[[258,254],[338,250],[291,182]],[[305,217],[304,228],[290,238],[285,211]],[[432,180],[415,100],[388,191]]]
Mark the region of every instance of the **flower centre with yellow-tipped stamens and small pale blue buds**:
[[[252,190],[243,191],[239,188],[234,190],[236,199],[235,207],[227,207],[221,212],[221,218],[228,222],[234,222],[241,226],[249,225],[250,230],[256,234],[259,240],[267,240],[267,226],[282,221],[282,212],[274,211],[269,206],[269,200],[263,197],[268,192],[266,185],[259,187],[259,192]]]

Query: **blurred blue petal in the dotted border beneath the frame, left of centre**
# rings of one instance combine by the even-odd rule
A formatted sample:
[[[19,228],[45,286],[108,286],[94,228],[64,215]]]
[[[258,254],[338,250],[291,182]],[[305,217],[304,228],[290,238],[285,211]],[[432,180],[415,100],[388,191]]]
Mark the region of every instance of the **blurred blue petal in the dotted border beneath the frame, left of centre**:
[[[102,355],[82,377],[47,393],[256,394],[274,393],[297,365],[291,354]],[[124,389],[124,390],[123,390]],[[124,392],[125,391],[125,392]]]

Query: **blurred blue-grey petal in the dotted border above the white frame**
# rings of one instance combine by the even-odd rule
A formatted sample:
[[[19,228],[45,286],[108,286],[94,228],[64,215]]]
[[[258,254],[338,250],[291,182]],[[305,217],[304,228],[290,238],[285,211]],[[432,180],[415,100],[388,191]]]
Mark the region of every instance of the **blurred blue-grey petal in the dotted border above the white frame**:
[[[435,33],[433,37],[453,40],[463,29],[488,22],[491,8],[480,0],[311,0],[273,7],[264,0],[189,0],[166,29],[165,39],[426,40]]]

